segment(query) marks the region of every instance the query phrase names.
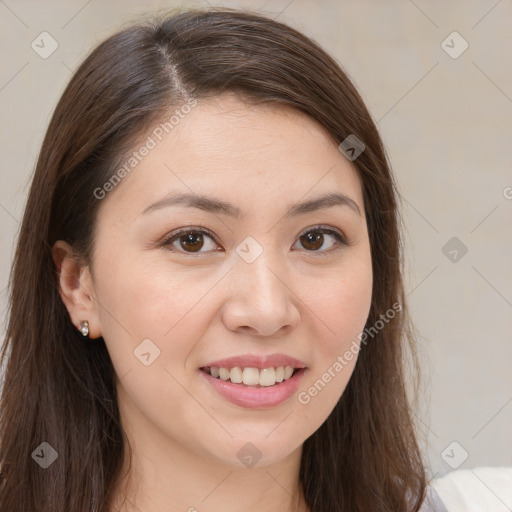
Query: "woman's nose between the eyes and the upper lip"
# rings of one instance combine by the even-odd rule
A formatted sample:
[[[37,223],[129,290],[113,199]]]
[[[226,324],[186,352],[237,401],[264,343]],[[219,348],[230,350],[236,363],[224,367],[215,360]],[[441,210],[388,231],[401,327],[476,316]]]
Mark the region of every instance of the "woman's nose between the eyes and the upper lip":
[[[267,251],[252,263],[235,258],[228,281],[222,318],[229,330],[268,337],[299,323],[300,300],[289,272]]]

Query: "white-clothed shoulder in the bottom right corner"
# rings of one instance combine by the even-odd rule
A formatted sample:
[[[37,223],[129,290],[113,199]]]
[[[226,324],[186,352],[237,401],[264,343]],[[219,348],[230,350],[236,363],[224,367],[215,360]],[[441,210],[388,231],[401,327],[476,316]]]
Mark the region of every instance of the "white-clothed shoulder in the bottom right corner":
[[[512,467],[477,467],[450,471],[430,482],[445,509],[421,512],[510,511],[512,508]]]

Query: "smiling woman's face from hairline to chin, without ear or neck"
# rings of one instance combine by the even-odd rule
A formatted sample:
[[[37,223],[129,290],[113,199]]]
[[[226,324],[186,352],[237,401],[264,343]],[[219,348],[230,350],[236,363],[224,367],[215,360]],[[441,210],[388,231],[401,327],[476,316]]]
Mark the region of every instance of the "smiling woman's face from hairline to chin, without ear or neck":
[[[372,291],[359,178],[315,121],[233,96],[152,138],[101,199],[91,266],[124,427],[158,453],[277,462],[325,421],[356,363]],[[329,194],[348,199],[315,203]],[[263,385],[202,370],[233,357],[230,379]],[[305,369],[273,386],[281,370],[254,370],[287,363]]]

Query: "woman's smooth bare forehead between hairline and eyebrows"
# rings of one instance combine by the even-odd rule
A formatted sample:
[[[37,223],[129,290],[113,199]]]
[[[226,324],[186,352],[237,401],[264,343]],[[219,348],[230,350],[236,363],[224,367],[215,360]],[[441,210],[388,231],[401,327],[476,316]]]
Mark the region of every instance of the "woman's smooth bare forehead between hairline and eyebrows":
[[[163,122],[179,109],[173,108]],[[258,208],[265,201],[338,191],[362,207],[354,166],[309,116],[281,105],[252,105],[234,95],[198,101],[186,112],[174,115],[168,133],[161,135],[161,122],[135,144],[137,151],[151,139],[151,149],[106,202],[140,210],[163,194],[189,192]]]

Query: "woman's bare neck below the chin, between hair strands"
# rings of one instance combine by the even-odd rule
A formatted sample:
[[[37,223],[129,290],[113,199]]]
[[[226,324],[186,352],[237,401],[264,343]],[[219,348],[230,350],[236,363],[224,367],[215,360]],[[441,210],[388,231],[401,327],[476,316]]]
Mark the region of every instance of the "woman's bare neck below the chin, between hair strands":
[[[110,512],[307,512],[299,468],[302,446],[284,460],[240,468],[201,457],[179,443],[130,440]],[[128,457],[128,455],[127,455]],[[129,469],[129,470],[128,470]]]

